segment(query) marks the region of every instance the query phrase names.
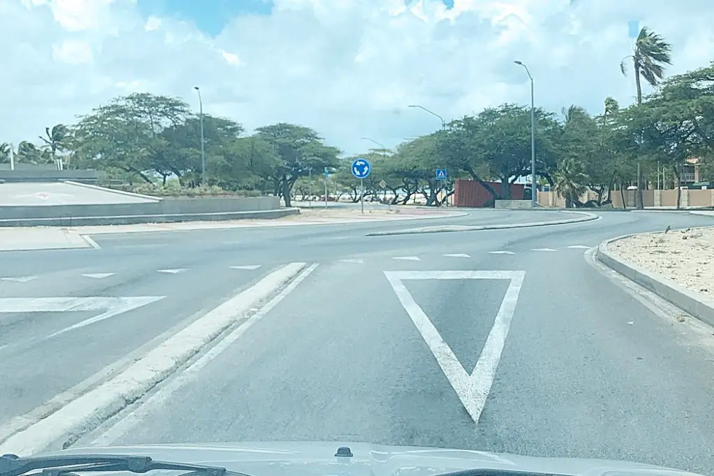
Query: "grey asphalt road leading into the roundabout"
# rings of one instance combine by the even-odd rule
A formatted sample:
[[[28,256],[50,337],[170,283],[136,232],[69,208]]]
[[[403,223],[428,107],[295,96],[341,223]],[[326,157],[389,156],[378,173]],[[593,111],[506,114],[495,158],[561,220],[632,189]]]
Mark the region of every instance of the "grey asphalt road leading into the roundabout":
[[[4,275],[33,279],[2,281],[0,298],[156,300],[66,331],[98,313],[0,314],[0,375],[11,375],[0,379],[0,427],[89,385],[277,266],[304,261],[318,266],[243,335],[78,444],[361,440],[637,460],[714,475],[712,330],[655,315],[584,258],[605,238],[714,220],[601,215],[416,236],[364,236],[416,221],[102,236],[101,250],[1,253]],[[423,279],[436,271],[457,273]],[[522,283],[506,271],[525,273]],[[98,277],[106,273],[114,274]],[[443,348],[428,345],[423,316],[406,310],[400,283],[464,375],[443,370]],[[488,368],[467,377],[493,348],[494,327],[508,333],[485,388]],[[460,382],[488,397],[465,399],[454,390]]]

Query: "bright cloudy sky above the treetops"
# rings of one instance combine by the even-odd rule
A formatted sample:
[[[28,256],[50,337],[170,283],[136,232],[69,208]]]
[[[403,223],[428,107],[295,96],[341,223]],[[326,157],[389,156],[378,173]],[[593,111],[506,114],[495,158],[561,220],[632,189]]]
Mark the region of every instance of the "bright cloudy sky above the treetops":
[[[0,143],[133,92],[246,130],[314,128],[352,154],[501,103],[600,113],[648,26],[677,74],[714,60],[710,0],[0,0]],[[645,87],[645,93],[650,92]],[[370,140],[371,139],[371,140]]]

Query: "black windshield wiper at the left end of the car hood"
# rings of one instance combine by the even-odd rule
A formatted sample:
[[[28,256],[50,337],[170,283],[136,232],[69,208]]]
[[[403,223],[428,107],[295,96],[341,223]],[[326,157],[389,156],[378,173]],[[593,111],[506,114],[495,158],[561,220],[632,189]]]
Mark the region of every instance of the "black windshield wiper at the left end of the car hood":
[[[38,457],[0,457],[0,476],[21,476],[29,472],[43,476],[79,476],[80,472],[133,472],[155,470],[185,471],[179,476],[249,476],[224,467],[186,465],[180,462],[154,461],[148,456],[127,455],[56,455]]]

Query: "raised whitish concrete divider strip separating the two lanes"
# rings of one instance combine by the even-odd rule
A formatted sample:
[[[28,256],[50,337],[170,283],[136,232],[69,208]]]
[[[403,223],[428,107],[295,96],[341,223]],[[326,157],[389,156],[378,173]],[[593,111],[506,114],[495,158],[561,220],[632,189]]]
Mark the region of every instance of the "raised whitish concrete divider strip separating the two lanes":
[[[81,435],[92,430],[169,377],[204,345],[211,343],[261,301],[287,285],[306,265],[289,263],[266,275],[251,288],[226,300],[150,350],[115,378],[8,437],[0,444],[0,454],[32,455],[48,449],[68,435]]]

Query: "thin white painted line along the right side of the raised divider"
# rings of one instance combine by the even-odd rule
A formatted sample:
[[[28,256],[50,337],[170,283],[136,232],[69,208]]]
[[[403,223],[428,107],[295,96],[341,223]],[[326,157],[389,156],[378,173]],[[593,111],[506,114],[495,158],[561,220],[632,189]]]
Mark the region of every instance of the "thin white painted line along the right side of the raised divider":
[[[243,323],[243,325],[236,328],[236,330],[233,330],[233,332],[226,335],[226,338],[221,340],[221,342],[216,344],[216,346],[211,348],[211,350],[208,350],[208,352],[201,355],[196,362],[189,365],[188,368],[177,374],[176,377],[171,378],[171,380],[168,380],[164,385],[161,385],[161,388],[159,388],[156,393],[151,395],[151,397],[146,399],[146,401],[139,402],[134,410],[132,410],[128,415],[118,415],[119,420],[112,423],[106,430],[101,430],[101,428],[99,428],[99,434],[88,435],[87,440],[89,441],[86,442],[86,444],[91,446],[112,445],[121,437],[134,430],[136,425],[150,420],[151,415],[156,415],[159,408],[164,408],[166,402],[172,395],[174,395],[174,393],[176,393],[177,390],[180,390],[184,385],[187,385],[191,382],[191,380],[198,377],[198,373],[201,372],[201,370],[203,370],[208,363],[211,363],[211,360],[218,357],[218,355],[221,355],[224,350],[229,348],[236,340],[241,338],[241,336],[246,333],[246,330],[253,327],[258,320],[261,320],[261,318],[278,305],[278,303],[288,297],[288,295],[317,267],[318,263],[313,263],[306,270],[303,270],[303,272],[300,273],[297,278],[292,280],[291,283],[287,285],[287,287],[278,295],[276,295],[275,298],[271,299],[266,305],[263,306],[263,308],[261,308],[261,310],[258,310],[257,313],[251,315],[251,317],[246,320],[246,323]],[[84,444],[84,442],[82,444]]]

